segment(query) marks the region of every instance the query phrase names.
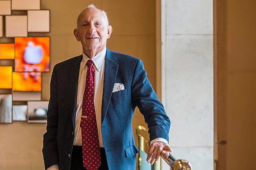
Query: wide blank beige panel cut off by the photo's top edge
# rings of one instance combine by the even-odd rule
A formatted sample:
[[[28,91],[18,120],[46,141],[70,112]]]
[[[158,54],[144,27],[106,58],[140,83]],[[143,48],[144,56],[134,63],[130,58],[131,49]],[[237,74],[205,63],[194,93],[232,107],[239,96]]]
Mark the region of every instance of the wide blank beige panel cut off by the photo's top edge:
[[[12,0],[12,10],[39,10],[40,0]]]

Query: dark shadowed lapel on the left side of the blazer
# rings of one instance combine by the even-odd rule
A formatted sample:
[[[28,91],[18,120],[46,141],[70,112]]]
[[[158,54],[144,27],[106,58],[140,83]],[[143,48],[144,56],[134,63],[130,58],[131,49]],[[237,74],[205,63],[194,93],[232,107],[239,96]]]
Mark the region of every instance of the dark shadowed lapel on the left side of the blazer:
[[[74,68],[70,69],[70,101],[74,101],[73,105],[71,105],[71,120],[73,124],[73,128],[75,129],[75,119],[76,119],[76,101],[77,101],[77,88],[78,88],[78,77],[79,77],[79,69],[80,63],[82,60],[82,55],[78,56],[71,61]],[[68,82],[67,82],[68,83]],[[67,93],[68,94],[68,93]]]

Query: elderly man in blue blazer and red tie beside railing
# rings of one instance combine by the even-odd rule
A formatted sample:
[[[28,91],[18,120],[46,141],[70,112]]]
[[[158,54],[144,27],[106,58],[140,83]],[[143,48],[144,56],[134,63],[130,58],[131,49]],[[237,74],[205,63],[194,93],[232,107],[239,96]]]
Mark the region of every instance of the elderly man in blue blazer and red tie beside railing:
[[[137,106],[150,133],[151,164],[167,156],[170,120],[141,60],[110,51],[106,13],[94,5],[77,18],[83,53],[55,65],[44,135],[46,169],[135,169],[132,117]]]

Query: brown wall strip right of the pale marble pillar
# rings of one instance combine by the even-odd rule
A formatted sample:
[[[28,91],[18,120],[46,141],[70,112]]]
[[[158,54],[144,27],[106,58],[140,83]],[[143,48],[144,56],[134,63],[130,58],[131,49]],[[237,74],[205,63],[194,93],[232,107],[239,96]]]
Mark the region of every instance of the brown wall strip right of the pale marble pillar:
[[[256,158],[256,2],[215,1],[217,169],[251,169]]]

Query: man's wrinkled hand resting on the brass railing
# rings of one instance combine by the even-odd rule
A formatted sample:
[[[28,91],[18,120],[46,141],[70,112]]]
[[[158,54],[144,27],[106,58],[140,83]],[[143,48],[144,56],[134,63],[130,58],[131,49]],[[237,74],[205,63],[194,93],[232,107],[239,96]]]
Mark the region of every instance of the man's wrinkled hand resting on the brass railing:
[[[170,149],[169,145],[156,141],[150,145],[150,149],[148,150],[146,161],[153,165],[155,161],[158,161],[160,158],[160,155],[162,155],[164,158],[168,158],[168,152],[173,152],[172,149]]]

